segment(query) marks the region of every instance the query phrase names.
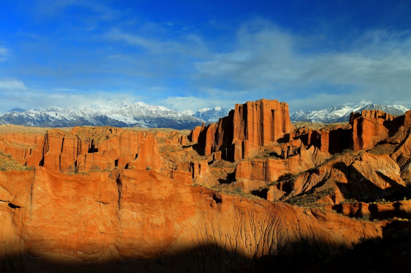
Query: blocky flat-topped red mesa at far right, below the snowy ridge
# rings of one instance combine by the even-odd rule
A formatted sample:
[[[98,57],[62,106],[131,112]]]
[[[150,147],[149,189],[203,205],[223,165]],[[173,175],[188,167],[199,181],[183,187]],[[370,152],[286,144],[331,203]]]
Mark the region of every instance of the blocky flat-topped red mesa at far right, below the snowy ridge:
[[[352,112],[350,115],[351,148],[353,150],[367,150],[374,147],[376,143],[388,137],[389,123],[392,120],[394,120],[393,115],[381,110]]]

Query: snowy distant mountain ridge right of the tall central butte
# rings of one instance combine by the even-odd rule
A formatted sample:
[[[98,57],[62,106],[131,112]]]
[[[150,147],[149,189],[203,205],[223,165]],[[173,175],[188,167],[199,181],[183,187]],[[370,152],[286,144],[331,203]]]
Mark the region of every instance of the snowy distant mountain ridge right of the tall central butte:
[[[362,110],[382,110],[384,112],[401,115],[404,114],[409,107],[403,105],[382,105],[382,104],[367,104],[367,105],[337,105],[321,110],[312,110],[303,112],[302,110],[291,113],[291,121],[306,121],[320,123],[334,123],[348,121],[351,112],[360,112]]]

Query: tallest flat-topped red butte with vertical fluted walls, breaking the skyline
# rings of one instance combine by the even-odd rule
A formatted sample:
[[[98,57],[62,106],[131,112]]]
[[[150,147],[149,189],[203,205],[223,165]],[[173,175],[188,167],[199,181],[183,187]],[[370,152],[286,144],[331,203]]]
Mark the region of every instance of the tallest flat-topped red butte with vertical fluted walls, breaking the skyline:
[[[204,155],[221,152],[222,158],[238,161],[293,130],[286,102],[260,99],[236,104],[217,123],[192,130],[190,139]]]

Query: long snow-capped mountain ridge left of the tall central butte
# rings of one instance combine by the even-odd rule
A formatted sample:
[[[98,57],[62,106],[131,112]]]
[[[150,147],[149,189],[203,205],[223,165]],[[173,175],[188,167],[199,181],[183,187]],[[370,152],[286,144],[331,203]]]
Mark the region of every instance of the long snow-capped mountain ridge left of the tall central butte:
[[[23,111],[21,111],[23,110]],[[32,110],[12,109],[0,114],[0,124],[39,127],[117,126],[191,129],[204,120],[165,106],[143,102],[103,108],[99,106],[45,107]]]

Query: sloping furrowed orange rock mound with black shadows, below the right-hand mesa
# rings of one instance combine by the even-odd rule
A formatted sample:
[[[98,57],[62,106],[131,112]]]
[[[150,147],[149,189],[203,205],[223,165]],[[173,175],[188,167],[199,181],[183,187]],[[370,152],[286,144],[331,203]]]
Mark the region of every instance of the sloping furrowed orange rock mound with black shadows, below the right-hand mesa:
[[[286,186],[289,189],[287,198],[290,198],[302,196],[319,183],[328,188],[325,190],[326,195],[319,200],[322,203],[336,203],[351,198],[385,198],[395,194],[406,194],[407,191],[406,184],[400,177],[398,165],[388,154],[375,155],[366,152],[340,155],[311,171],[299,174],[291,182],[280,182],[283,184],[280,188]]]

